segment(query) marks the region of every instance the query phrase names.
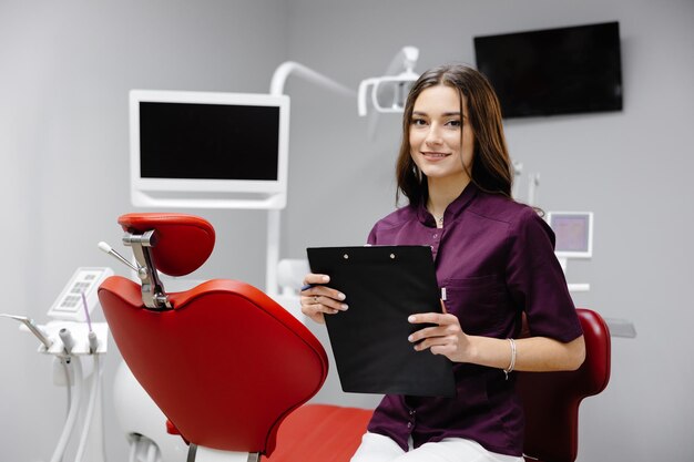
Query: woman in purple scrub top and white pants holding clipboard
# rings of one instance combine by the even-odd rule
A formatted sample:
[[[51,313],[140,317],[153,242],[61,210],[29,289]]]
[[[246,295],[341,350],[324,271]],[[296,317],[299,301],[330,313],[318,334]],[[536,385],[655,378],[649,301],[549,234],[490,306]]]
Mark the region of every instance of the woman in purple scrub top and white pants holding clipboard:
[[[430,245],[443,314],[409,340],[455,363],[456,398],[386,396],[353,462],[522,461],[523,417],[512,371],[573,370],[582,330],[553,254],[554,235],[511,199],[499,101],[473,69],[425,72],[405,106],[398,196],[372,245]],[[347,309],[329,275],[309,274],[302,311],[318,322]],[[348,301],[348,300],[346,300]],[[529,336],[514,340],[527,319]]]

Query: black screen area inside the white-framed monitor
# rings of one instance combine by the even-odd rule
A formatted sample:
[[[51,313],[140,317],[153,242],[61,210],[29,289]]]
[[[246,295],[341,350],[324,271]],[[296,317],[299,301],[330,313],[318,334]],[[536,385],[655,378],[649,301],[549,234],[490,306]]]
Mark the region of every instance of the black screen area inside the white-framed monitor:
[[[143,178],[277,181],[279,107],[140,102]]]

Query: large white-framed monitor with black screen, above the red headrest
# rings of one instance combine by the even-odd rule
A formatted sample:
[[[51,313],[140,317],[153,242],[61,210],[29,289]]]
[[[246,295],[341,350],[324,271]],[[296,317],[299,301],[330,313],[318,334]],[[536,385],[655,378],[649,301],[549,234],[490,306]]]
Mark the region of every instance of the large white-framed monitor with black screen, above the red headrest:
[[[288,115],[285,95],[132,90],[133,204],[283,208]]]

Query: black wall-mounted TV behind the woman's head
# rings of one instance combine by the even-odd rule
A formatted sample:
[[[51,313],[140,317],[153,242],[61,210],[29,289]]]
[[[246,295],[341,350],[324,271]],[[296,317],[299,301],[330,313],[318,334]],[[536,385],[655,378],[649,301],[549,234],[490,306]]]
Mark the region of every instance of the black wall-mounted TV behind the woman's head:
[[[622,109],[619,22],[474,38],[503,116]]]

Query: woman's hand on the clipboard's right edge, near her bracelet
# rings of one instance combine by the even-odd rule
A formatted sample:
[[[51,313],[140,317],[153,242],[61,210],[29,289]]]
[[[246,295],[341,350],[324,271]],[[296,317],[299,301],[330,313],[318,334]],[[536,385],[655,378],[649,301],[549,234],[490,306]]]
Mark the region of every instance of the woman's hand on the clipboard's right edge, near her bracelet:
[[[443,306],[443,301],[441,301]],[[410,324],[433,324],[437,326],[425,327],[411,336],[408,340],[415,345],[417,351],[430,349],[433,355],[443,355],[453,362],[468,362],[471,357],[470,339],[462,331],[460,321],[455,315],[446,312],[422,312],[412,315],[407,319]]]

